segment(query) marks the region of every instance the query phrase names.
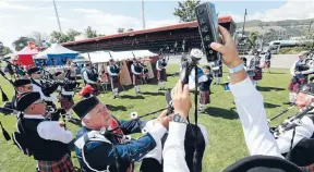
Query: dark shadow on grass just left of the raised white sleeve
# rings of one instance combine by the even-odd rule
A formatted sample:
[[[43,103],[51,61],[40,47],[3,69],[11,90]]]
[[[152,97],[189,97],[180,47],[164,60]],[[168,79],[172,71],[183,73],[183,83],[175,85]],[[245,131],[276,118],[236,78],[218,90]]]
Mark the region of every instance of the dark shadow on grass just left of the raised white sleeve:
[[[205,112],[209,114],[210,116],[215,116],[215,118],[222,118],[222,119],[229,119],[229,120],[239,119],[238,113],[233,111],[232,108],[228,110],[228,109],[221,109],[221,108],[216,108],[216,107],[209,107],[205,110]]]

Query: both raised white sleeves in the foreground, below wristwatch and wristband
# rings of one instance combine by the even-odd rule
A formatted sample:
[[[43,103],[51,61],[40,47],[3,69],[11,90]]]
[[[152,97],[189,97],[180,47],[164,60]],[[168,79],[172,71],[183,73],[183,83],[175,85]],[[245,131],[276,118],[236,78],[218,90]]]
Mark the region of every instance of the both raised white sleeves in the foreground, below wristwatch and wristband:
[[[263,96],[253,86],[251,79],[229,85],[234,96],[237,110],[243,127],[244,138],[250,155],[276,156],[279,148],[274,135],[269,132],[264,109]],[[184,135],[186,124],[170,122],[169,135],[164,148],[165,172],[189,172],[185,162]]]

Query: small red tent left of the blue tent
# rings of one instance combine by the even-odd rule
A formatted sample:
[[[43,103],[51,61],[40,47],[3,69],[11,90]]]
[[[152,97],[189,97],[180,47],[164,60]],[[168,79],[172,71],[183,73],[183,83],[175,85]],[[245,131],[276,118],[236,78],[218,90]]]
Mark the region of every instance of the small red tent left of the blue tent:
[[[20,65],[34,65],[33,56],[39,53],[38,49],[25,47],[17,52]]]

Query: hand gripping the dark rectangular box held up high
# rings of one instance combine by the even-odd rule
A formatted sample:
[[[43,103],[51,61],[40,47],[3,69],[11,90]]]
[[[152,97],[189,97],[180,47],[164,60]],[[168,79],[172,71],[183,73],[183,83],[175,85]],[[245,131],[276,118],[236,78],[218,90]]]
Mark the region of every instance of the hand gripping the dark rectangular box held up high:
[[[222,54],[222,61],[228,67],[235,67],[242,63],[235,44],[230,33],[222,26],[219,26],[222,44],[212,42],[210,47]]]

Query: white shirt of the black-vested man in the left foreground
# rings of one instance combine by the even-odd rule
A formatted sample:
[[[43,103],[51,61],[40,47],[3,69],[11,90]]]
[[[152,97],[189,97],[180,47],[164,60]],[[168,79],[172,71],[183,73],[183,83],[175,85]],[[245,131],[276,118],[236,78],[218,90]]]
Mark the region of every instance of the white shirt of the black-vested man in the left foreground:
[[[45,119],[43,115],[28,115],[24,114],[25,119]],[[69,144],[72,138],[72,132],[61,127],[58,121],[44,121],[37,126],[38,135],[48,140],[57,140],[63,144]]]

